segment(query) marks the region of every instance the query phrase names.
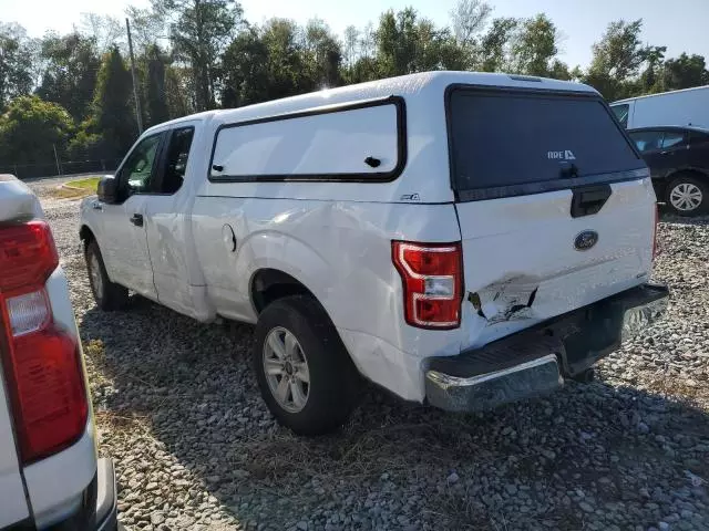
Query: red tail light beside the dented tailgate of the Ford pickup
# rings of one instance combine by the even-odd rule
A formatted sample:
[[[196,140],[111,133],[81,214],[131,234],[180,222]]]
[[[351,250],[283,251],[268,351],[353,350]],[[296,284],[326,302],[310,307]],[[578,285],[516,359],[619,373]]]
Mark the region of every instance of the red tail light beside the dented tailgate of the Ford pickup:
[[[421,329],[461,324],[461,243],[392,241],[392,260],[403,282],[407,323]]]

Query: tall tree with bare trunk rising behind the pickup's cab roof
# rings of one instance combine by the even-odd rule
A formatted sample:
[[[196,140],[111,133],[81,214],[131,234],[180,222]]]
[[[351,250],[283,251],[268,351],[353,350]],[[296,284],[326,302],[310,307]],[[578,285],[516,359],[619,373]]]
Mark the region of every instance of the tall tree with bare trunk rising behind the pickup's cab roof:
[[[215,108],[219,58],[242,23],[235,0],[153,0],[153,9],[169,21],[175,58],[192,70],[197,111]]]

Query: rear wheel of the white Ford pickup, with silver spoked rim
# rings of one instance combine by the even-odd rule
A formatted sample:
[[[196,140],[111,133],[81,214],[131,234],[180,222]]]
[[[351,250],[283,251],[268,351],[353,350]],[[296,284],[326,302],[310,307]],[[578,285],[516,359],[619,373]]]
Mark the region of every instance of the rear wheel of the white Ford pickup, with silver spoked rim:
[[[340,427],[356,404],[359,377],[320,305],[296,295],[269,304],[256,325],[254,369],[266,405],[298,435]]]

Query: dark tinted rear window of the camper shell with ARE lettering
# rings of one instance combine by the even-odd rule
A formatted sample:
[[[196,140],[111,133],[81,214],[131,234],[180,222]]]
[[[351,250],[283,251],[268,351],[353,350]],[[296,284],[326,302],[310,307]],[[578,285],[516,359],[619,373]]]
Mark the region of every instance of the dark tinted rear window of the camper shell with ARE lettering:
[[[597,98],[456,90],[450,95],[459,190],[538,184],[643,168]]]

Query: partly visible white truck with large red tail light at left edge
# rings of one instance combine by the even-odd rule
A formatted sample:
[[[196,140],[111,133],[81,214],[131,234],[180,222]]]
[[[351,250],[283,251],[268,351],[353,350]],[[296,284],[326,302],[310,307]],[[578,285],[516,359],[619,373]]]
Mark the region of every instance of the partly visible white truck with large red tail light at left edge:
[[[81,342],[37,197],[0,175],[0,530],[116,529]]]

